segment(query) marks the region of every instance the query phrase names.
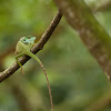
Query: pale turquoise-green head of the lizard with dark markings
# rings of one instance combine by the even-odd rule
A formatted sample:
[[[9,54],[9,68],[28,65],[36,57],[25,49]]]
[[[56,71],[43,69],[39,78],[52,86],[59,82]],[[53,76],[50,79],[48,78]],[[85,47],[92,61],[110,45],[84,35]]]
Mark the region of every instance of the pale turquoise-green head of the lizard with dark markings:
[[[34,43],[34,40],[36,40],[36,37],[31,37],[31,36],[22,37],[20,39],[20,41],[22,43],[24,43],[26,46],[33,44]]]

